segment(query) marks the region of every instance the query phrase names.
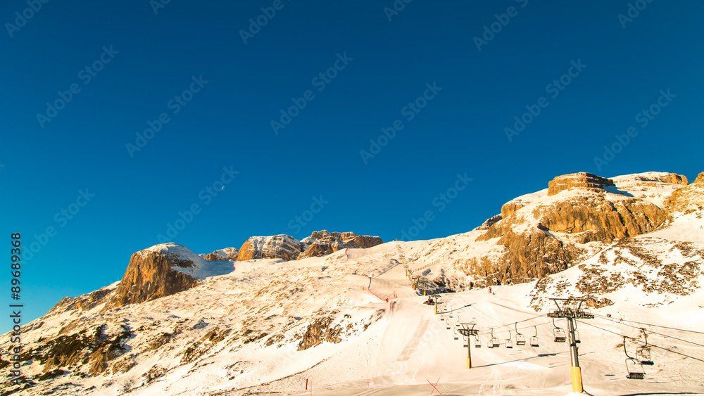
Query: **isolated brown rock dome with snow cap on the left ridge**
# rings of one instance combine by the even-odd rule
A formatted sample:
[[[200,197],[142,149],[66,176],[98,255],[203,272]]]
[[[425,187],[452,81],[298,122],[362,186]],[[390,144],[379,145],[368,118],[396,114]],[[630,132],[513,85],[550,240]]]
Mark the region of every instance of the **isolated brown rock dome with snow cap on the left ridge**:
[[[230,261],[208,261],[176,243],[163,243],[132,254],[115,295],[106,308],[154,300],[188,290],[208,276],[229,274]]]

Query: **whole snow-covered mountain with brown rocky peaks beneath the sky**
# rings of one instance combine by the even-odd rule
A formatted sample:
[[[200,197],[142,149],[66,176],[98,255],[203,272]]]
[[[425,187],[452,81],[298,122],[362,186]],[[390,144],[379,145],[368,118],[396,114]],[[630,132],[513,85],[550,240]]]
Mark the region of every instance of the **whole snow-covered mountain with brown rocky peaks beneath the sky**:
[[[581,173],[431,241],[345,253],[321,231],[296,255],[248,260],[243,246],[218,261],[156,245],[121,281],[23,326],[24,382],[4,357],[0,395],[427,395],[436,382],[451,395],[565,395],[570,355],[553,342],[565,324],[546,317],[557,297],[595,314],[578,321],[589,393],[704,392],[703,207],[704,173]],[[251,245],[295,247],[284,239]],[[299,257],[318,240],[325,255]],[[424,292],[443,293],[440,314]],[[470,370],[460,323],[479,330]],[[509,348],[517,333],[539,346]],[[654,364],[628,380],[624,341],[634,355],[644,334]]]

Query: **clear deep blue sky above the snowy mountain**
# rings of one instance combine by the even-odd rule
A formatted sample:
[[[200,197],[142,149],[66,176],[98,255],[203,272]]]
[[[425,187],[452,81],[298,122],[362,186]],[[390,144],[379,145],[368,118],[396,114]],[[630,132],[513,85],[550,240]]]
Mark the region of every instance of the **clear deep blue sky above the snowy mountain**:
[[[560,174],[704,171],[698,1],[222,3],[0,6],[0,235],[7,258],[13,232],[37,250],[25,319],[178,221],[196,253],[428,239]]]

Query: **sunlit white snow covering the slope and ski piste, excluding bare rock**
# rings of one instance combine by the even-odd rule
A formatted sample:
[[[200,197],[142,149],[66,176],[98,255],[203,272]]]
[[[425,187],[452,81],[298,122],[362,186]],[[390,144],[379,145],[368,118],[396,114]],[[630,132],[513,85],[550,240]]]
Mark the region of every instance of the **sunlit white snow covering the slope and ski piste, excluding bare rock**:
[[[621,191],[637,191],[636,184],[628,184],[629,177],[614,179]],[[661,202],[676,188],[668,184],[648,189],[648,193],[656,195],[650,197],[653,202]],[[517,214],[530,213],[538,205],[572,194],[590,193],[562,191],[548,197],[546,192],[519,197],[528,206]],[[655,254],[662,265],[696,261],[701,272],[702,260],[686,257],[673,248],[680,241],[689,241],[694,243],[693,249],[704,249],[704,232],[700,231],[704,224],[698,215],[700,212],[679,215],[669,226],[634,240]],[[525,217],[532,226],[534,219]],[[182,293],[106,312],[101,312],[103,306],[98,305],[85,311],[48,314],[27,325],[25,339],[32,340],[27,347],[37,347],[37,338],[54,337],[59,328],[66,329],[63,334],[71,334],[81,326],[93,328],[103,323],[108,324],[109,334],[120,331],[121,326],[134,332],[126,341],[128,352],[115,361],[130,360],[135,366],[124,372],[87,378],[59,376],[44,388],[46,394],[54,395],[118,395],[127,390],[131,396],[256,395],[261,388],[263,395],[420,396],[438,394],[435,383],[444,395],[574,395],[569,382],[569,350],[565,343],[553,342],[553,320],[545,315],[553,306],[546,298],[583,295],[575,285],[590,274],[586,272],[589,269],[620,274],[629,280],[640,274],[655,282],[663,279],[659,267],[613,243],[579,265],[550,276],[552,281],[538,299],[536,281],[492,286],[494,294],[486,289],[445,293],[441,299],[444,304],[439,305],[442,313],[435,314],[434,307],[422,303],[427,297],[417,295],[417,290],[410,287],[403,264],[412,270],[430,264],[425,269],[430,278],[442,273],[468,280],[455,269],[455,263],[498,251],[496,240],[475,241],[482,232],[431,241],[392,241],[368,249],[349,249],[347,255],[340,250],[325,257],[291,262],[208,262],[181,245],[156,245],[141,254],[160,252],[191,260],[195,264],[194,276],[207,282]],[[602,254],[605,263],[600,260]],[[618,257],[622,259],[617,260]],[[176,266],[174,269],[189,271]],[[629,282],[596,294],[614,304],[593,308],[596,318],[578,322],[582,340],[579,359],[584,388],[589,394],[704,392],[704,362],[674,353],[701,357],[702,347],[681,340],[704,344],[704,335],[628,322],[701,331],[704,275],[700,273],[696,281],[698,286],[689,295],[646,291]],[[103,289],[117,286],[116,282]],[[385,302],[368,289],[398,298]],[[538,312],[532,309],[534,303]],[[298,350],[300,337],[308,326],[326,317],[344,332],[341,342]],[[475,324],[482,341],[481,348],[474,347],[473,339],[470,343],[470,370],[465,369],[467,349],[462,337],[454,340],[456,325],[460,323]],[[566,327],[565,319],[554,323]],[[639,327],[670,337],[648,333],[649,343],[667,350],[653,348],[655,365],[645,367],[646,379],[631,381],[625,378],[625,356],[620,344],[622,336],[641,339]],[[513,348],[506,348],[505,339],[510,336],[515,340],[516,329],[527,340],[535,331],[540,346],[518,346],[514,342]],[[486,347],[492,330],[500,347]],[[226,335],[220,342],[210,343],[208,335],[213,331]],[[162,333],[174,337],[163,347],[149,349]],[[248,337],[261,333],[267,335],[244,343]],[[6,350],[8,343],[8,335],[0,336],[1,348]],[[629,352],[634,353],[638,345],[629,341]],[[185,361],[184,351],[189,348],[202,355]],[[144,374],[154,367],[164,369],[165,374],[149,382]],[[23,371],[29,375],[42,373],[42,366],[32,362]],[[306,390],[306,380],[313,386],[312,391]]]

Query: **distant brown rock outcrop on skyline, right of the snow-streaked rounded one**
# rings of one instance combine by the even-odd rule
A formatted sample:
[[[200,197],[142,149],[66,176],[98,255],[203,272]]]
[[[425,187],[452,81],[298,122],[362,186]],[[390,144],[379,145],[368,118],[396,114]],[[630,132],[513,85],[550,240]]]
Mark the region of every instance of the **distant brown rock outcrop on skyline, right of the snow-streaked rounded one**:
[[[344,248],[371,248],[382,243],[384,241],[378,236],[357,235],[353,232],[314,231],[301,241],[303,252],[298,255],[298,260],[329,255]]]

